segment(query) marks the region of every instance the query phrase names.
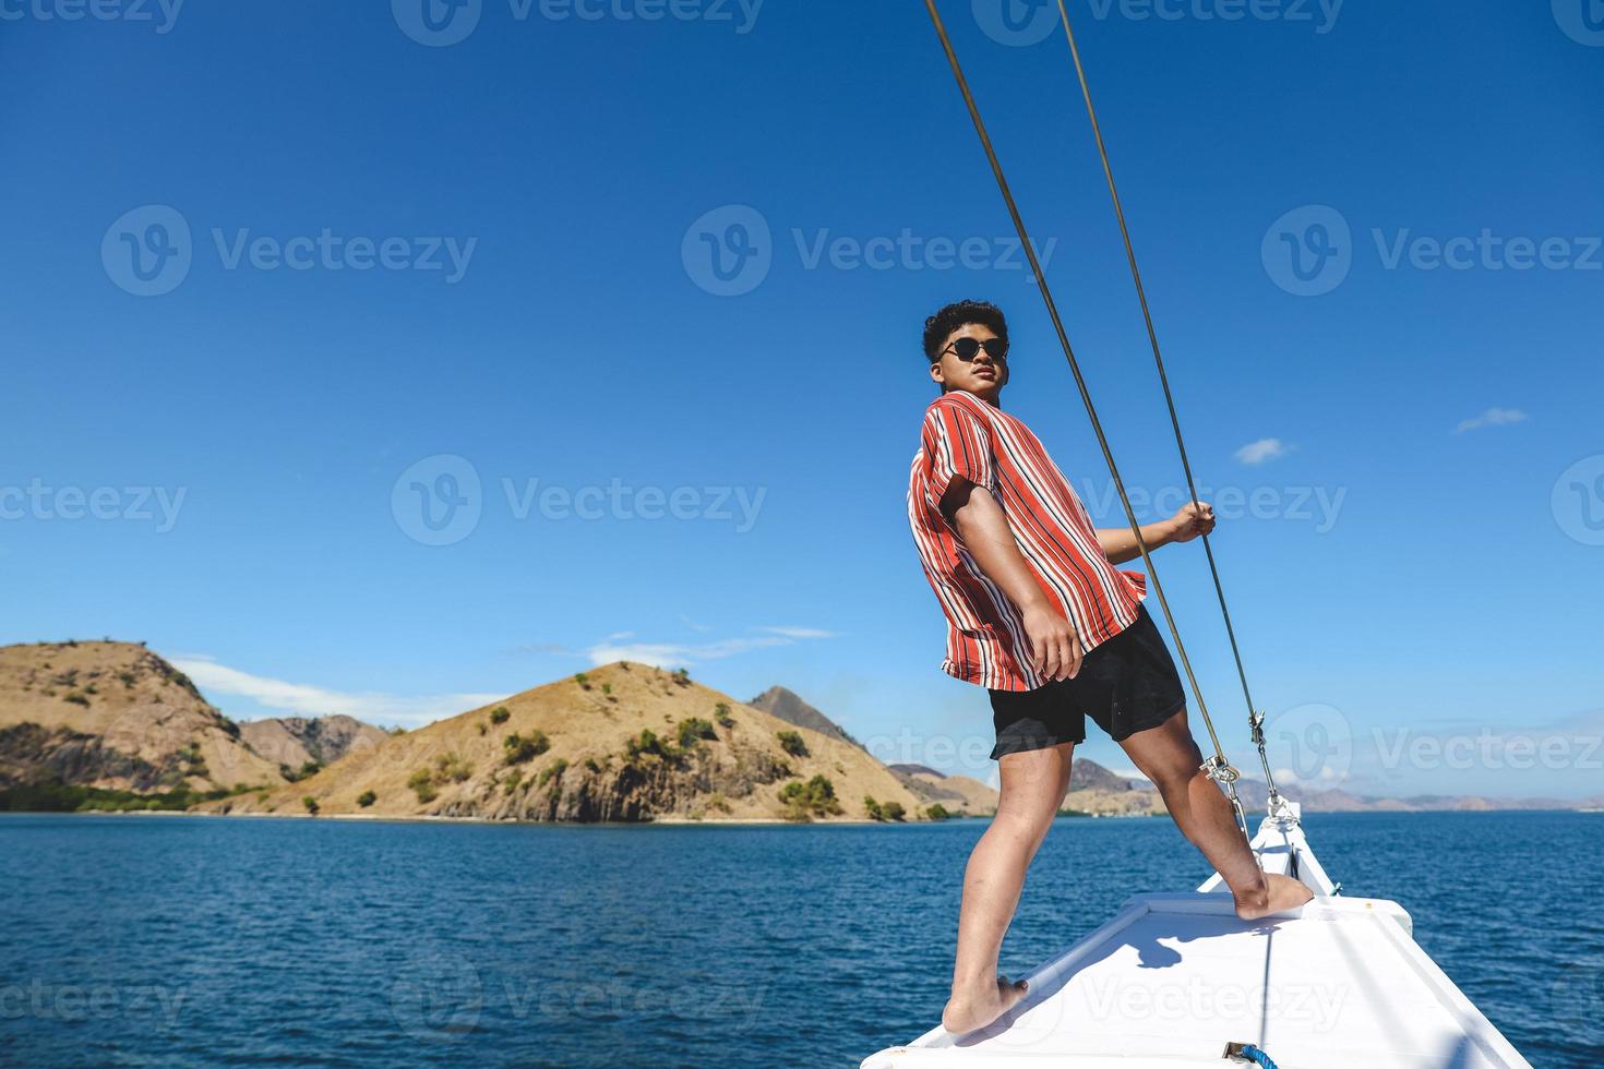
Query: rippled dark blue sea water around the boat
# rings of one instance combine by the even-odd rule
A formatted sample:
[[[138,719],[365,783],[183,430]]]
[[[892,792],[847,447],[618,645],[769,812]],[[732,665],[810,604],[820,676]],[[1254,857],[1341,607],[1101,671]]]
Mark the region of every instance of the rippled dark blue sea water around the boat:
[[[1604,816],[1306,829],[1535,1066],[1604,1066]],[[0,1064],[852,1066],[938,1021],[983,830],[3,816]],[[1206,875],[1060,819],[1003,968]]]

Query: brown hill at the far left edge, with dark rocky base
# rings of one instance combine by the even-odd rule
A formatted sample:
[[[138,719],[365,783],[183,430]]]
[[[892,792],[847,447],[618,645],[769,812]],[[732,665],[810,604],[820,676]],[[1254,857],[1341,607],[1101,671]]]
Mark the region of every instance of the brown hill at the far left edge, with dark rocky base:
[[[0,789],[282,784],[184,673],[133,643],[0,647]]]

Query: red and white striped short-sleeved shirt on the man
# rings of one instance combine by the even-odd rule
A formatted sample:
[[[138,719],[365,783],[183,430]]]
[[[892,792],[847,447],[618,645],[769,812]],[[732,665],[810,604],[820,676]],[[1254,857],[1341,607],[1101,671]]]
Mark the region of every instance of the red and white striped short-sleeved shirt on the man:
[[[1030,665],[1019,607],[986,579],[942,516],[942,495],[956,476],[983,486],[1003,506],[1025,563],[1083,649],[1089,652],[1137,619],[1147,577],[1108,563],[1091,514],[1030,428],[972,393],[950,389],[926,409],[908,479],[908,522],[946,614],[943,672],[998,691],[1035,691],[1047,683]]]

